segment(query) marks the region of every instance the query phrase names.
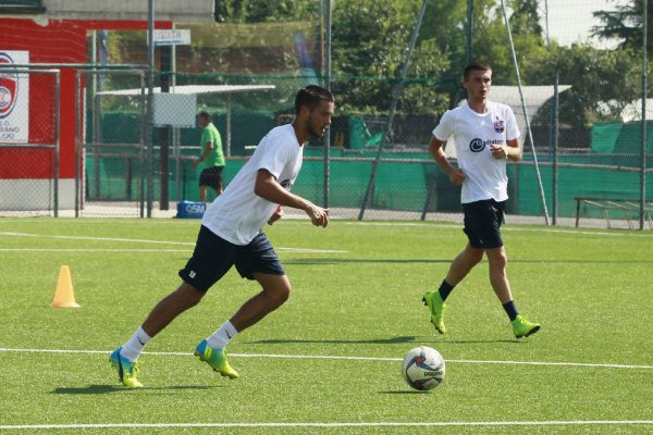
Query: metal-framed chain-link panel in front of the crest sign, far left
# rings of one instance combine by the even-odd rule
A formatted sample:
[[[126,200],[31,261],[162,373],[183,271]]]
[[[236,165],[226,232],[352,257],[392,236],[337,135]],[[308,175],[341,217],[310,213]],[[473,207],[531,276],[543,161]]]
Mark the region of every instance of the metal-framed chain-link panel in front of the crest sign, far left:
[[[72,192],[60,176],[59,92],[59,71],[0,70],[2,215],[57,216],[59,199]]]

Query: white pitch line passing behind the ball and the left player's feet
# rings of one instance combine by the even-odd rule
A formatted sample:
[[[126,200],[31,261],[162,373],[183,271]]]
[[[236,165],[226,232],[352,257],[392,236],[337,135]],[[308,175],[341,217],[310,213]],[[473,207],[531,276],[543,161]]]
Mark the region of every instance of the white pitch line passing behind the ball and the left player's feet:
[[[25,352],[25,353],[111,353],[111,350],[66,350],[66,349],[19,349],[0,348],[0,352]],[[144,355],[190,357],[189,352],[148,352]],[[348,361],[402,361],[403,358],[384,357],[338,357],[329,355],[280,355],[280,353],[231,353],[230,357],[236,358],[289,358],[289,359],[312,359],[312,360],[348,360]],[[653,370],[653,365],[631,365],[631,364],[611,364],[594,362],[549,362],[549,361],[494,361],[494,360],[453,360],[446,362],[460,364],[514,364],[514,365],[556,365],[556,366],[580,366],[580,368],[603,368],[603,369],[629,369],[629,370]]]

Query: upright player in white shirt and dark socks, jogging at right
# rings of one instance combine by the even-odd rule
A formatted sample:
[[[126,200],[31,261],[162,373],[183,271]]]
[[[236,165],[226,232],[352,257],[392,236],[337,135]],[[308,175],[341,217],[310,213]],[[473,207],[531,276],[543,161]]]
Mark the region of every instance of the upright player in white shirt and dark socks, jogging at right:
[[[510,320],[513,333],[521,338],[537,333],[540,325],[526,320],[515,307],[500,231],[508,199],[506,162],[521,160],[519,128],[509,107],[488,100],[491,86],[490,65],[470,62],[463,74],[467,104],[445,112],[433,129],[431,154],[453,184],[463,185],[460,202],[469,241],[452,262],[440,288],[424,294],[422,301],[431,312],[431,323],[444,334],[444,301],[485,254],[490,284]],[[443,146],[448,139],[455,142],[458,167],[452,166],[444,154]]]

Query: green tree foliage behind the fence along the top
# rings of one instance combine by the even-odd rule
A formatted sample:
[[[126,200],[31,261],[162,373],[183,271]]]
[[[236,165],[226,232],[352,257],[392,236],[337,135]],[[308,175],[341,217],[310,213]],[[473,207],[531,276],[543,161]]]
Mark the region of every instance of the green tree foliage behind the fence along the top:
[[[341,113],[387,113],[421,3],[422,0],[332,1],[331,77]],[[506,0],[505,3],[522,85],[552,85],[558,74],[560,84],[574,86],[572,90],[560,96],[560,120],[588,126],[594,121],[614,119],[621,108],[638,98],[639,80],[636,76],[641,71],[638,59],[642,39],[641,1],[631,0],[615,7],[614,11],[595,13],[604,24],[594,29],[595,35],[620,40],[620,51],[600,50],[586,45],[558,47],[555,41],[547,48],[540,24],[541,1]],[[232,58],[237,55],[242,60],[238,64],[242,82],[247,82],[255,72],[261,77],[268,73],[271,80],[274,80],[272,74],[286,74],[282,71],[284,69],[295,69],[287,71],[287,75],[296,75],[300,72],[293,42],[274,39],[270,44],[273,39],[270,33],[260,27],[249,28],[249,25],[283,23],[289,27],[297,23],[312,23],[313,32],[304,32],[304,35],[311,46],[318,70],[317,77],[312,79],[319,83],[323,66],[321,37],[324,36],[320,24],[324,14],[321,8],[325,4],[325,0],[215,0],[215,21],[221,26],[239,26],[244,35],[256,35],[269,44],[261,44],[261,51],[257,51],[259,46],[250,47],[254,44],[250,38],[241,34],[234,36],[236,27],[222,27],[223,33],[247,47],[205,47],[195,39],[204,34],[194,30],[194,47],[189,49],[192,53],[187,59],[189,64],[199,66],[184,72],[230,73],[230,69],[235,67],[233,64],[237,63]],[[471,28],[467,20],[468,7],[472,7],[473,11]],[[649,2],[649,9],[650,16],[653,16],[653,1]],[[207,32],[215,34],[219,30]],[[650,26],[650,32],[653,32],[653,26]],[[468,52],[470,37],[471,51]],[[221,38],[222,41],[227,39]],[[650,35],[649,39],[653,40],[653,36]],[[143,32],[112,33],[109,47],[111,62],[144,62],[144,41]],[[271,52],[270,47],[278,46],[283,46],[275,51],[279,58],[272,61],[269,55],[264,57]],[[134,55],[138,50],[139,54]],[[183,53],[182,50],[180,52]],[[465,98],[460,75],[468,58],[492,64],[494,85],[517,84],[501,1],[428,0],[397,110],[438,114],[455,105]],[[257,63],[258,59],[270,62]],[[264,66],[256,70],[252,67],[255,64]],[[292,94],[293,87],[282,88],[280,85],[280,89]]]

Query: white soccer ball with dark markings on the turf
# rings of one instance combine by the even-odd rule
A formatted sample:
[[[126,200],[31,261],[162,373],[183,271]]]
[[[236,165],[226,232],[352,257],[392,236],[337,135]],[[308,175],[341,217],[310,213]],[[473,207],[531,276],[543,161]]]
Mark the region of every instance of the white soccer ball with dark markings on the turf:
[[[444,378],[444,359],[433,348],[420,346],[410,349],[402,362],[404,381],[415,389],[435,388]]]

